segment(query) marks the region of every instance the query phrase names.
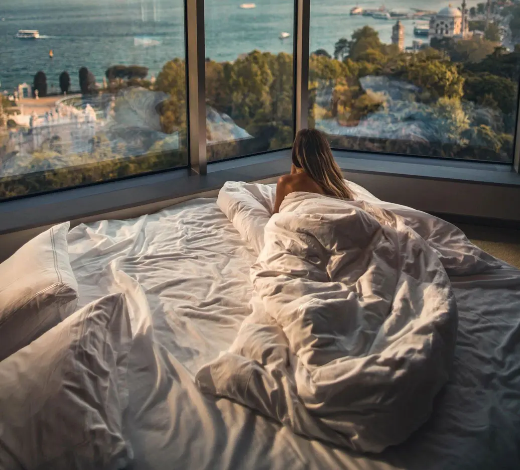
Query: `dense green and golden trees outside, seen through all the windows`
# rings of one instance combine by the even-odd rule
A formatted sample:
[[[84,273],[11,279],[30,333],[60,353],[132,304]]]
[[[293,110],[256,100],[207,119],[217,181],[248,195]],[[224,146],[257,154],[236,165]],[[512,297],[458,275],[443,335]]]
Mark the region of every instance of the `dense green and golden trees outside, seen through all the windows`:
[[[361,131],[343,132],[344,135],[329,132],[330,140],[334,146],[356,150],[510,160],[520,49],[508,53],[498,43],[485,39],[443,39],[432,41],[432,46],[416,53],[401,52],[395,45],[383,44],[376,31],[364,27],[349,39],[340,39],[333,54],[317,50],[309,63],[309,125],[343,132],[366,129],[367,122],[371,130],[375,125],[387,130],[396,122],[404,126],[413,122],[422,124],[430,137],[411,138],[398,130],[389,137],[378,136],[377,132],[367,137]],[[63,86],[60,77],[62,92],[70,86],[66,73],[62,73]],[[106,71],[108,89],[99,93],[106,93],[108,99],[115,97],[115,115],[126,109],[127,88],[164,93],[164,100],[155,108],[160,121],[157,132],[163,136],[178,135],[179,151],[163,151],[171,148],[170,141],[167,137],[153,137],[155,131],[136,136],[140,149],[136,157],[128,157],[129,151],[122,143],[127,142],[126,134],[118,143],[98,135],[88,158],[70,155],[66,145],[50,138],[34,151],[34,159],[50,162],[63,156],[71,162],[90,163],[81,166],[80,171],[77,165],[75,169],[53,170],[49,163],[49,170],[43,173],[3,179],[0,198],[186,164],[185,62],[178,58],[166,62],[155,83],[147,81],[147,75],[145,67],[112,66]],[[79,78],[82,93],[92,94],[92,73],[84,67]],[[240,139],[228,135],[223,139],[218,126],[208,121],[209,160],[289,147],[293,138],[293,101],[290,54],[254,50],[233,62],[207,59],[207,112],[216,112],[224,124],[236,125],[249,135]],[[137,113],[140,111],[136,109]],[[124,130],[124,121],[120,124]],[[4,145],[2,155],[8,155],[5,142],[0,145]],[[96,160],[99,161],[92,163]]]

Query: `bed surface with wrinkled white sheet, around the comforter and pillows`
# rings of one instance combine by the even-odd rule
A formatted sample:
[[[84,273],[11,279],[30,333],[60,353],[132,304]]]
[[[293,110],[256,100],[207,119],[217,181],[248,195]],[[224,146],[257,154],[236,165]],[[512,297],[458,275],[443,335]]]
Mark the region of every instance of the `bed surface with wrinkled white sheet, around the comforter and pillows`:
[[[194,384],[249,314],[256,260],[215,199],[80,225],[68,240],[79,307],[123,292],[141,333],[124,416],[132,468],[518,468],[520,272],[512,266],[451,278],[457,385],[443,389],[431,419],[406,443],[367,455],[297,436]]]

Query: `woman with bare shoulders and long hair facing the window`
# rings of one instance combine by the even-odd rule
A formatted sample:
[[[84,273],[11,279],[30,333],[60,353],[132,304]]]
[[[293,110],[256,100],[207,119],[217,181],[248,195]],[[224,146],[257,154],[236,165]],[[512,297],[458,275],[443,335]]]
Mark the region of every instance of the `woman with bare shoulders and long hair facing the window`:
[[[274,213],[279,212],[285,196],[298,191],[340,199],[354,198],[332,156],[327,139],[316,129],[302,129],[296,134],[291,174],[280,176],[278,180]]]

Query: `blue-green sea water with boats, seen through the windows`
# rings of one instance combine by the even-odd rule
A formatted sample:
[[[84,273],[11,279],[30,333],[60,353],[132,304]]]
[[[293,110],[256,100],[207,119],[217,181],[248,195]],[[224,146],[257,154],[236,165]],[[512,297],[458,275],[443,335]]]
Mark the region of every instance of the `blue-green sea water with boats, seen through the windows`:
[[[293,50],[294,0],[255,0],[256,8],[242,9],[243,0],[206,0],[206,57],[235,60],[253,49],[272,53]],[[439,10],[451,0],[386,0],[387,9]],[[469,0],[468,8],[478,0]],[[311,50],[333,53],[341,37],[369,25],[385,43],[391,41],[395,21],[350,16],[350,9],[378,8],[381,0],[312,0]],[[184,2],[182,0],[16,0],[0,5],[0,90],[12,91],[32,83],[43,70],[49,91],[59,90],[63,70],[77,90],[81,67],[92,71],[98,82],[116,64],[141,65],[152,74],[164,63],[184,57]],[[406,45],[414,39],[414,20],[404,20]],[[41,39],[20,40],[19,29],[40,31]],[[290,37],[280,40],[280,34]],[[49,58],[53,50],[54,58]]]

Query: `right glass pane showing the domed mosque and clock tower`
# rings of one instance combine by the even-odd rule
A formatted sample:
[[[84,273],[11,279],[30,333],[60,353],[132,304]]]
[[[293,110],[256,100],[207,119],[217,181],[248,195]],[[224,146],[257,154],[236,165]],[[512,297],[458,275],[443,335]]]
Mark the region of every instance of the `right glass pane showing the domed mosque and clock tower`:
[[[336,148],[511,162],[520,6],[451,3],[311,2],[310,125]]]

